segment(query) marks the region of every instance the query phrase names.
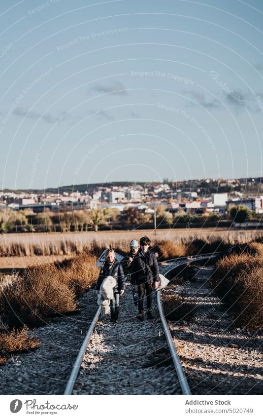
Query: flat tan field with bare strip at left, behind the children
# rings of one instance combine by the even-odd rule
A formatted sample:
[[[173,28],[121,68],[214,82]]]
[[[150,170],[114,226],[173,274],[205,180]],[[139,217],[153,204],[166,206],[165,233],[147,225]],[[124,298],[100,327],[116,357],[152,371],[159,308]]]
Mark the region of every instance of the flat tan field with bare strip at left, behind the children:
[[[135,238],[139,240],[148,235],[152,244],[161,240],[171,240],[177,245],[186,246],[194,240],[209,242],[248,243],[263,237],[261,230],[234,230],[223,228],[206,229],[158,229],[156,235],[153,230],[132,231],[89,231],[68,233],[19,233],[5,234],[0,237],[0,268],[28,267],[33,264],[61,261],[70,255],[83,251],[94,253],[95,248],[113,247],[129,250],[129,242]],[[191,252],[189,252],[191,253]],[[204,253],[202,251],[202,253]],[[98,255],[96,255],[98,256]]]

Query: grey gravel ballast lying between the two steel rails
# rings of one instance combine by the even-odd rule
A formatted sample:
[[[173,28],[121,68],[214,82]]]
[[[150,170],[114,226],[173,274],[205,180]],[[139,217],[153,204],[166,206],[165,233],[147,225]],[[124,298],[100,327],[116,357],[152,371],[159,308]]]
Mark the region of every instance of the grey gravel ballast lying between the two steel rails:
[[[104,317],[88,345],[73,394],[181,394],[159,318],[139,321],[128,287],[119,320]]]

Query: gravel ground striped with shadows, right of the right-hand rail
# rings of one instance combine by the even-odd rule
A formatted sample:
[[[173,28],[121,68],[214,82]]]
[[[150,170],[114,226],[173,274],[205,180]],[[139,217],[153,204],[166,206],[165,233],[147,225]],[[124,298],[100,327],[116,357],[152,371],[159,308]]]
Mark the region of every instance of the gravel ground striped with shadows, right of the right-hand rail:
[[[209,286],[213,267],[196,267],[191,281],[169,285],[197,305],[190,321],[170,322],[180,360],[193,394],[262,394],[262,331],[235,326],[231,310]]]

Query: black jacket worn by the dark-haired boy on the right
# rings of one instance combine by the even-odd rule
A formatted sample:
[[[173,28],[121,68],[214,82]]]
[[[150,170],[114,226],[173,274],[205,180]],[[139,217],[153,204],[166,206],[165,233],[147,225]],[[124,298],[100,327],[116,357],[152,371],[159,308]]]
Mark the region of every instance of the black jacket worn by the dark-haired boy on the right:
[[[131,284],[159,282],[159,266],[154,252],[149,250],[143,255],[138,251],[132,262]]]

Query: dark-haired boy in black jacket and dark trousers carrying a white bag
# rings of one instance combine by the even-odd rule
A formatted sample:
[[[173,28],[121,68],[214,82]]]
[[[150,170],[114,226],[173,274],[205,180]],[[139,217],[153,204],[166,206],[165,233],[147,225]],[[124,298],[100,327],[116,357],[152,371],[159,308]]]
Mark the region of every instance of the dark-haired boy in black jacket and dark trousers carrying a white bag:
[[[146,293],[147,317],[152,319],[152,289],[158,288],[159,266],[154,252],[149,251],[151,240],[144,236],[140,239],[140,248],[132,262],[131,284],[138,286],[138,320],[144,320],[143,299]]]

